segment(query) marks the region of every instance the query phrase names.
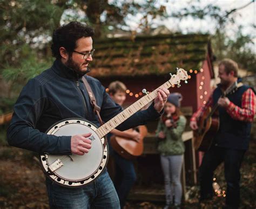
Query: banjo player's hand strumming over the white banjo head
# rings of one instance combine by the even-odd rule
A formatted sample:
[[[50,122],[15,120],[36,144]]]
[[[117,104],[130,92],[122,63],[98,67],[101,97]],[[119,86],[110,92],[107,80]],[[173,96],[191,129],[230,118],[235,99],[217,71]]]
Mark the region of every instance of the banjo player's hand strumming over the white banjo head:
[[[89,134],[78,134],[71,137],[71,152],[75,155],[84,155],[85,153],[89,152],[91,149],[91,140],[87,137],[90,137],[91,133]]]

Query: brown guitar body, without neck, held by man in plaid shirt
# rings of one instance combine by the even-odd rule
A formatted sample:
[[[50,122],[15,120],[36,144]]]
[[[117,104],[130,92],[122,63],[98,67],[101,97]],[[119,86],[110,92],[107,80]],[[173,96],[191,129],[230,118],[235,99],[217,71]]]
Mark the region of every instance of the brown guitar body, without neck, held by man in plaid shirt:
[[[194,147],[200,151],[210,149],[214,136],[219,130],[219,117],[211,113],[211,107],[208,107],[198,121],[198,129],[193,131]]]

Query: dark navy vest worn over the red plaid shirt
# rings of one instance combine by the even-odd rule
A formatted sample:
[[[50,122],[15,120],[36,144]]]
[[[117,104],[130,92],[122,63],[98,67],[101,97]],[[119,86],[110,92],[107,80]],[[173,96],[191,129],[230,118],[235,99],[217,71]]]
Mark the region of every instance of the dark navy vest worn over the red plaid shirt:
[[[240,80],[238,80],[240,82]],[[242,94],[250,88],[243,85],[239,87],[234,93],[228,94],[228,99],[234,105],[241,107]],[[222,95],[220,86],[213,92],[213,105],[218,102],[219,97]],[[214,144],[219,147],[246,150],[249,146],[251,123],[246,121],[234,120],[225,108],[219,107],[220,126],[217,135],[214,139]]]

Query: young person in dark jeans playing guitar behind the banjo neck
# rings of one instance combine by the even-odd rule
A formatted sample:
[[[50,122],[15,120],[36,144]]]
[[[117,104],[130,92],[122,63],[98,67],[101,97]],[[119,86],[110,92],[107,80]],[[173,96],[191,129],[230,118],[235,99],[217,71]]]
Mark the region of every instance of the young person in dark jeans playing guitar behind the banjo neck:
[[[123,105],[126,99],[126,89],[127,88],[124,83],[120,81],[111,82],[109,85],[110,96],[112,97],[113,101],[120,106]],[[145,129],[145,126],[142,127]],[[113,129],[110,134],[107,135],[107,139],[110,145],[110,156],[114,158],[114,187],[116,188],[119,197],[120,206],[123,208],[125,205],[126,197],[129,194],[131,187],[133,186],[137,177],[131,159],[127,159],[129,157],[127,156],[127,153],[125,155],[125,150],[117,145],[117,142],[115,141],[117,137],[122,138],[122,140],[126,141],[126,143],[136,142],[135,144],[139,144],[143,135],[134,129],[129,129],[126,131]]]

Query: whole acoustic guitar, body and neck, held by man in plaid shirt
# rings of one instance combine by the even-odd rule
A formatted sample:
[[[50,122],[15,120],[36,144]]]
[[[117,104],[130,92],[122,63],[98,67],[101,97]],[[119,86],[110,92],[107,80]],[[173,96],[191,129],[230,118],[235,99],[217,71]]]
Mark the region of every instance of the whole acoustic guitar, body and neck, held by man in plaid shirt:
[[[221,97],[235,92],[240,86],[242,86],[242,83],[239,83],[238,85],[237,81],[235,81],[227,88]],[[207,151],[210,149],[213,138],[219,130],[218,107],[218,103],[216,103],[213,108],[207,107],[199,117],[198,129],[193,130],[194,147],[199,151]]]

